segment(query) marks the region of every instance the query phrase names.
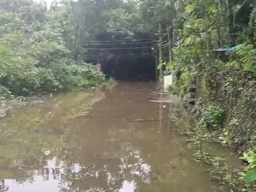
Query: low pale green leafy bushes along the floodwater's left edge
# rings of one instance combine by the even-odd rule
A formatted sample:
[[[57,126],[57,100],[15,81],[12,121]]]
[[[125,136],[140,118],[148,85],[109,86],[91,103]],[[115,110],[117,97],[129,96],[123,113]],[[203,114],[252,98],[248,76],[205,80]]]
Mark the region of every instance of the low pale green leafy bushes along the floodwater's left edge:
[[[61,38],[30,42],[17,33],[0,38],[0,84],[15,96],[27,96],[94,87],[105,80],[95,66],[67,58],[62,44]]]

